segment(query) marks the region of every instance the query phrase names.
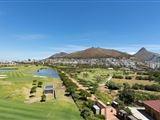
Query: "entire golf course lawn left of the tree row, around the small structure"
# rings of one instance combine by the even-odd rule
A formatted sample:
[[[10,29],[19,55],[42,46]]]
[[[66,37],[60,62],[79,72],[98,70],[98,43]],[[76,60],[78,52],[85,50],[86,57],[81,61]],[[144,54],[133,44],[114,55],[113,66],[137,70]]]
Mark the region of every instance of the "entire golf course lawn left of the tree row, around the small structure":
[[[17,67],[17,66],[16,66]],[[18,66],[0,79],[0,119],[2,120],[82,120],[73,100],[64,96],[62,81],[54,78],[34,77],[43,66]],[[53,83],[57,99],[45,103],[24,103],[29,98],[33,80]]]

